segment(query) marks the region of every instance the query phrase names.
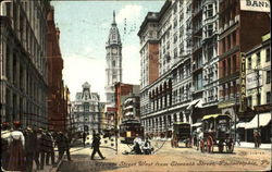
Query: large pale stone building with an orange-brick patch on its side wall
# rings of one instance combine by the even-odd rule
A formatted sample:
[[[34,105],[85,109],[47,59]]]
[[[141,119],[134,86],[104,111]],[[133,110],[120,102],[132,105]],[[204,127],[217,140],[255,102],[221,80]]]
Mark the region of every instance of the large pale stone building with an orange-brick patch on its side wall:
[[[191,0],[168,0],[159,12],[149,12],[138,36],[141,123],[146,134],[170,137],[173,122],[191,122],[187,110],[191,101]],[[149,75],[157,70],[158,75]]]

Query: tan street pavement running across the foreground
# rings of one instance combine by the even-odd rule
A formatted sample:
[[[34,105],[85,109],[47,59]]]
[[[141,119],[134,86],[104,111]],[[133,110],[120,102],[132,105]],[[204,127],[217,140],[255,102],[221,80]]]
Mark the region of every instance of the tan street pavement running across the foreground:
[[[106,160],[98,155],[90,160],[90,147],[74,147],[73,161],[64,160],[59,171],[267,171],[271,167],[271,149],[235,148],[234,153],[218,153],[215,148],[213,153],[201,153],[195,147],[171,148],[170,142],[156,143],[162,147],[154,148],[153,155],[123,155],[131,150],[123,144],[119,145],[118,155],[113,149],[101,148]]]

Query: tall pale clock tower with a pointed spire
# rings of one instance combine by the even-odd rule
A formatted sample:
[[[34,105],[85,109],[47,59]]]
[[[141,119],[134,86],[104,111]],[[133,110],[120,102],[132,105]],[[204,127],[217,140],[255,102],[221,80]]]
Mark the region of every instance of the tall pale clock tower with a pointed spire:
[[[106,42],[106,101],[114,106],[114,84],[122,82],[122,42],[115,22],[115,11],[113,11],[113,22]]]

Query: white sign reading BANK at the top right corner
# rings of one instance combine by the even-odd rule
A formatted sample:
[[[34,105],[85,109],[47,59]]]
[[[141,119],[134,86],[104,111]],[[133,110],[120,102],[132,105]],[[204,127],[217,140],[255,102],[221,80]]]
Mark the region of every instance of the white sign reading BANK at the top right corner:
[[[270,12],[269,0],[240,0],[240,10]]]

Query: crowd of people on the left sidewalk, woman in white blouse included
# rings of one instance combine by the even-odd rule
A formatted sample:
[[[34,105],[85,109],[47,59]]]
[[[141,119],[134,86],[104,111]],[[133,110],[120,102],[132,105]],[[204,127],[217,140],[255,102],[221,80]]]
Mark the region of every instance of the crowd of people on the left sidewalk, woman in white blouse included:
[[[70,137],[66,132],[49,132],[42,128],[22,128],[20,122],[2,123],[1,126],[1,168],[7,171],[32,172],[34,161],[36,170],[46,165],[57,165],[66,151],[70,157]],[[59,157],[54,159],[54,147]]]

